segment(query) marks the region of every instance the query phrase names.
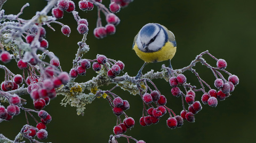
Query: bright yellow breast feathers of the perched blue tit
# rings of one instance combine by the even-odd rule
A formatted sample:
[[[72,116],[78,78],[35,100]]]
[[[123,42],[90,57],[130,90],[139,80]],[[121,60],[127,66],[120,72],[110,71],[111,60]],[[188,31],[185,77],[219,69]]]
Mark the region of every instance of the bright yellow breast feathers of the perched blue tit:
[[[176,47],[173,47],[173,44],[168,41],[161,50],[152,53],[145,53],[140,51],[138,45],[135,43],[133,46],[134,51],[136,54],[141,58],[141,60],[147,63],[154,63],[154,62],[162,62],[169,59],[172,59],[174,54],[176,53]]]

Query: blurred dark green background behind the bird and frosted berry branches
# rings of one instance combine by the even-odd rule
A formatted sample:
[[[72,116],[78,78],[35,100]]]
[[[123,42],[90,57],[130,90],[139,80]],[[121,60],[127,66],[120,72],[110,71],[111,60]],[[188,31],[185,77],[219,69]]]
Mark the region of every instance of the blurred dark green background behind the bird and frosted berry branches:
[[[23,14],[23,19],[31,19],[36,11],[41,11],[47,4],[46,1],[7,0],[3,5],[5,14],[17,14],[21,7],[29,3]],[[217,58],[227,61],[227,71],[239,77],[239,85],[232,95],[219,102],[216,108],[203,105],[203,110],[195,115],[195,123],[184,122],[181,128],[169,129],[166,120],[169,115],[164,115],[159,123],[147,127],[141,127],[139,119],[142,116],[142,101],[140,96],[130,95],[129,92],[116,88],[115,94],[129,101],[131,107],[125,113],[135,120],[135,127],[127,130],[127,136],[146,142],[255,142],[255,64],[256,48],[256,1],[177,1],[177,0],[134,0],[129,6],[122,9],[116,15],[121,23],[116,27],[115,35],[103,39],[93,36],[93,29],[97,21],[97,7],[93,11],[83,12],[78,8],[78,1],[74,1],[76,10],[81,18],[89,21],[89,35],[86,43],[90,46],[90,52],[84,58],[94,59],[97,54],[104,54],[108,58],[121,60],[125,63],[124,72],[135,76],[141,68],[143,61],[132,50],[133,38],[138,31],[149,22],[163,24],[171,30],[177,40],[177,53],[172,60],[174,69],[180,69],[190,64],[195,56],[209,50]],[[107,7],[110,1],[102,2]],[[51,13],[49,13],[51,15]],[[49,41],[49,51],[54,52],[60,59],[63,71],[69,72],[72,60],[77,52],[77,42],[82,35],[77,32],[77,23],[71,13],[64,13],[64,17],[58,20],[71,28],[70,37],[64,36],[61,26],[52,23],[56,30],[44,26],[46,39]],[[106,24],[102,14],[102,23]],[[215,66],[210,56],[203,56],[207,62]],[[49,60],[49,59],[47,59]],[[3,63],[1,63],[3,64]],[[143,70],[146,73],[150,69],[159,71],[162,64],[168,62],[148,64]],[[17,63],[12,61],[6,65],[15,74],[21,74]],[[195,66],[207,83],[213,87],[214,76],[209,69],[202,64]],[[121,75],[124,73],[121,73]],[[183,73],[187,82],[198,86],[198,80],[191,72]],[[4,80],[4,71],[0,70],[0,80]],[[97,75],[92,69],[87,70],[86,76],[79,76],[77,82],[85,82]],[[226,74],[225,77],[228,76]],[[176,114],[182,110],[181,98],[171,95],[171,87],[163,79],[153,80],[158,89],[167,98],[167,107]],[[115,85],[101,87],[102,90],[111,89]],[[87,92],[87,91],[86,91]],[[201,100],[202,93],[198,92],[196,100]],[[33,108],[32,101],[27,96],[26,107]],[[52,121],[47,125],[48,138],[43,142],[108,142],[113,127],[116,125],[116,116],[112,113],[107,100],[97,98],[86,106],[85,115],[78,116],[75,107],[60,106],[63,96],[51,100],[50,105],[44,110],[52,116]],[[37,115],[35,114],[37,117]],[[124,119],[124,116],[121,116]],[[29,117],[31,125],[35,121]],[[0,133],[9,139],[14,139],[23,125],[26,124],[24,112],[10,122],[0,123]],[[28,140],[27,140],[28,141]],[[127,142],[125,138],[118,142]],[[130,142],[134,142],[131,141]]]

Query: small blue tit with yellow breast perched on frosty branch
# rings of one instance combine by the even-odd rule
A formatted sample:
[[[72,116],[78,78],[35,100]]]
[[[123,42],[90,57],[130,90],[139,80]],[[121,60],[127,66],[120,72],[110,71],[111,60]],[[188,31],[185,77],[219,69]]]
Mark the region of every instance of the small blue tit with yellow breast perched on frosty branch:
[[[176,40],[171,31],[158,23],[148,23],[143,26],[134,37],[132,45],[135,53],[145,61],[135,79],[142,75],[142,69],[147,63],[155,63],[169,60],[176,53]]]

